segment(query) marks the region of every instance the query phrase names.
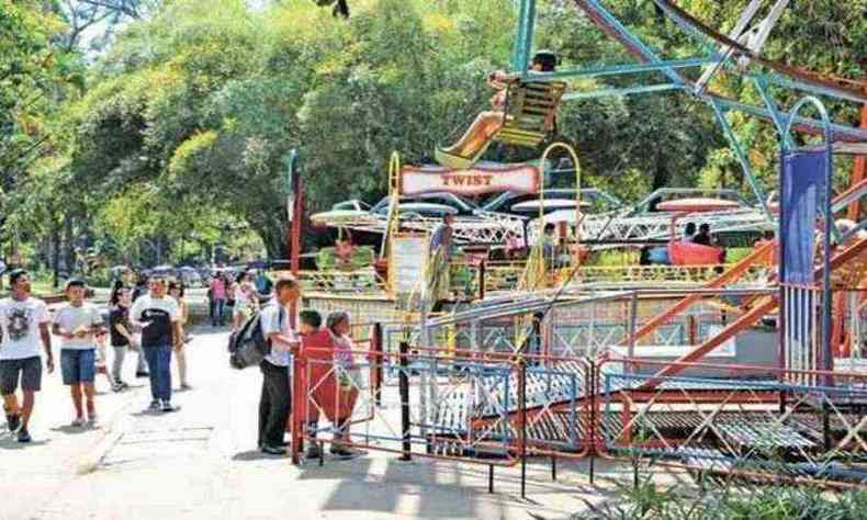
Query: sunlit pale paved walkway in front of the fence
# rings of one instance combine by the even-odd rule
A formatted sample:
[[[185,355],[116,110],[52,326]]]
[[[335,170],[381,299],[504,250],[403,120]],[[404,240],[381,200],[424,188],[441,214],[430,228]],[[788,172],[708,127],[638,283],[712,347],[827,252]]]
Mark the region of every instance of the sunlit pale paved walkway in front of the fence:
[[[34,417],[36,442],[0,441],[2,518],[553,519],[585,509],[585,499],[610,499],[607,477],[630,481],[628,468],[599,464],[609,493],[590,488],[582,462],[561,463],[552,483],[539,462],[521,500],[517,468],[498,468],[489,495],[486,466],[406,463],[381,452],[293,466],[256,451],[260,375],[228,369],[225,342],[226,334],[202,330],[188,346],[194,387],[176,394],[179,412],[146,411],[145,380],[131,378],[138,387],[100,394],[100,430],[64,426],[70,405],[59,375],[50,376]]]

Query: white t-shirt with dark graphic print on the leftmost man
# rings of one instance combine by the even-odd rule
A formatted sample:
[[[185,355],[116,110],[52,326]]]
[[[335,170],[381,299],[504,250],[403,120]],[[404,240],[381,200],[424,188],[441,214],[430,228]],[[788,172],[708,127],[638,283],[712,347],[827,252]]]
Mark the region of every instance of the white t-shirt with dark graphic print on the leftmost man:
[[[0,329],[3,331],[0,360],[23,360],[41,355],[40,325],[48,321],[48,307],[42,299],[0,299]]]

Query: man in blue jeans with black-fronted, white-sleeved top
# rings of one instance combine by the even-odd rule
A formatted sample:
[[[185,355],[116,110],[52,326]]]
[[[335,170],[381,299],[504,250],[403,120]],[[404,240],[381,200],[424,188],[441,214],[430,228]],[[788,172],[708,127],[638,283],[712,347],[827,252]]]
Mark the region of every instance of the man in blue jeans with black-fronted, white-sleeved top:
[[[133,303],[130,319],[142,329],[142,349],[150,369],[151,410],[174,411],[171,404],[171,351],[183,344],[178,302],[166,294],[166,279],[151,276],[149,293]]]

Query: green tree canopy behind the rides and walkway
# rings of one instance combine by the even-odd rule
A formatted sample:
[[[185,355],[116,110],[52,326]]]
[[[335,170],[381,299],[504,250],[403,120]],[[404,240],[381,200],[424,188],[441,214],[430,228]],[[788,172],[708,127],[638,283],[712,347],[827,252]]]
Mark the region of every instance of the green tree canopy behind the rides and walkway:
[[[221,229],[244,226],[269,256],[284,256],[290,149],[301,151],[309,211],[350,197],[374,202],[385,193],[392,150],[429,161],[437,144],[485,109],[484,79],[508,67],[516,26],[513,0],[61,3],[0,0],[0,25],[13,35],[0,39],[2,203],[26,206],[12,213],[34,240],[68,231],[72,241],[101,240],[115,251],[156,237],[195,236],[214,247]],[[570,3],[540,2],[539,47],[559,53],[563,67],[633,61]],[[745,3],[679,2],[721,32]],[[701,50],[651,1],[606,4],[666,57]],[[865,0],[798,2],[765,54],[860,77],[865,8]],[[78,39],[64,45],[76,15],[114,16],[98,54]],[[762,103],[736,75],[719,76],[713,88]],[[793,100],[775,93],[784,106]],[[855,108],[831,108],[857,122]],[[759,181],[775,186],[773,126],[737,114],[729,121]],[[559,132],[579,150],[585,183],[626,200],[663,185],[746,190],[713,113],[683,93],[570,102]],[[532,156],[495,147],[488,157]]]

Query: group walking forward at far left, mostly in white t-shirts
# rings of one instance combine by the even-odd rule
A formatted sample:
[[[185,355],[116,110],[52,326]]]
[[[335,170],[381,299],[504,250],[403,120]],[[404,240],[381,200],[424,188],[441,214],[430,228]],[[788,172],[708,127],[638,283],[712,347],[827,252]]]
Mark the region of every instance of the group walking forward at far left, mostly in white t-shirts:
[[[19,442],[32,440],[29,426],[35,395],[42,389],[43,361],[48,373],[55,370],[52,335],[60,342],[60,377],[69,387],[72,428],[98,425],[98,374],[103,374],[115,392],[128,388],[123,365],[130,350],[138,354],[136,376],[150,380],[149,408],[177,410],[171,402],[172,353],[181,387],[189,388],[183,352],[188,312],[181,284],[161,276],[147,281],[147,292],[134,292],[122,282],[115,284],[106,324],[99,308],[87,301],[83,280],[66,282],[66,303],[53,315],[45,302],[31,294],[26,271],[12,271],[9,283],[9,297],[0,299],[0,394],[7,426]],[[114,354],[111,370],[106,340]],[[22,399],[18,398],[19,388]]]

